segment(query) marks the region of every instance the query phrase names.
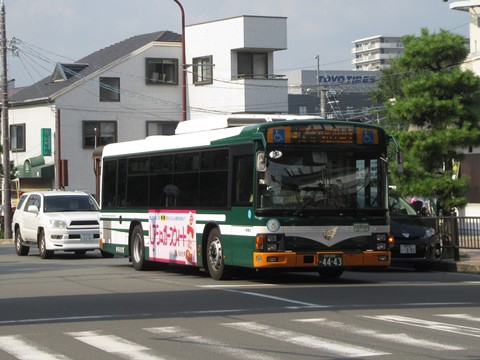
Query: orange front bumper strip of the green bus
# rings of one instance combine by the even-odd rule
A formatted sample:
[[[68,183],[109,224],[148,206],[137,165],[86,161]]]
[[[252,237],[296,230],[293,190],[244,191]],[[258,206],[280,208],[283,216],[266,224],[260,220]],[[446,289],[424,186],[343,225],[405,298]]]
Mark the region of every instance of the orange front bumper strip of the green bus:
[[[337,255],[341,264],[336,266],[389,266],[391,262],[389,251],[363,251],[359,253],[318,252],[298,254],[294,252],[255,252],[253,253],[254,268],[308,268],[319,266],[322,255]]]

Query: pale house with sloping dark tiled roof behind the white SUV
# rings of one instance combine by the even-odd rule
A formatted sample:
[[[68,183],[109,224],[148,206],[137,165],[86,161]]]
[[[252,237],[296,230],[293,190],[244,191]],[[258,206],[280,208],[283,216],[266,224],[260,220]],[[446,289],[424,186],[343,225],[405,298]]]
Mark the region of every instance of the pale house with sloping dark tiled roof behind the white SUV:
[[[22,190],[95,193],[92,152],[110,142],[172,134],[181,119],[181,35],[134,36],[10,96],[11,160]]]

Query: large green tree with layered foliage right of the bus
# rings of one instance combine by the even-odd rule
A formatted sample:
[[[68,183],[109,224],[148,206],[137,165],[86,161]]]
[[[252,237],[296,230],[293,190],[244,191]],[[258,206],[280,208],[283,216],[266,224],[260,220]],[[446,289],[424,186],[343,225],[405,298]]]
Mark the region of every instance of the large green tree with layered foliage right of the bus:
[[[381,71],[375,101],[383,102],[383,125],[397,138],[403,172],[391,167],[402,195],[436,199],[446,211],[467,203],[468,178],[452,164],[480,144],[480,78],[461,64],[465,38],[441,30],[402,39],[403,54]]]

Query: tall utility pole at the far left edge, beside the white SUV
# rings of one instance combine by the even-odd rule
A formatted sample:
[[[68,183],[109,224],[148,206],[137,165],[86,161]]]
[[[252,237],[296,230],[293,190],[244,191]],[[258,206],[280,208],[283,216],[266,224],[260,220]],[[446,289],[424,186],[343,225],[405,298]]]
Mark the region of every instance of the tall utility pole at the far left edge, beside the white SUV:
[[[1,3],[0,43],[2,47],[2,139],[3,139],[3,219],[4,238],[12,238],[12,193],[10,189],[10,137],[8,126],[8,78],[7,78],[7,36],[5,30],[5,4]]]

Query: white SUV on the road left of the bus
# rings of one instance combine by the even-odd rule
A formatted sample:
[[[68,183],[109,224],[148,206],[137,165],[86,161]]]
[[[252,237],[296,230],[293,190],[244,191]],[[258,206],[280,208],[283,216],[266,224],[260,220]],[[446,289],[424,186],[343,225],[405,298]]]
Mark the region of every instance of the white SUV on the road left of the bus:
[[[13,214],[12,230],[19,256],[28,255],[30,247],[38,247],[42,259],[52,258],[58,250],[84,255],[99,249],[98,205],[84,192],[24,193]]]

